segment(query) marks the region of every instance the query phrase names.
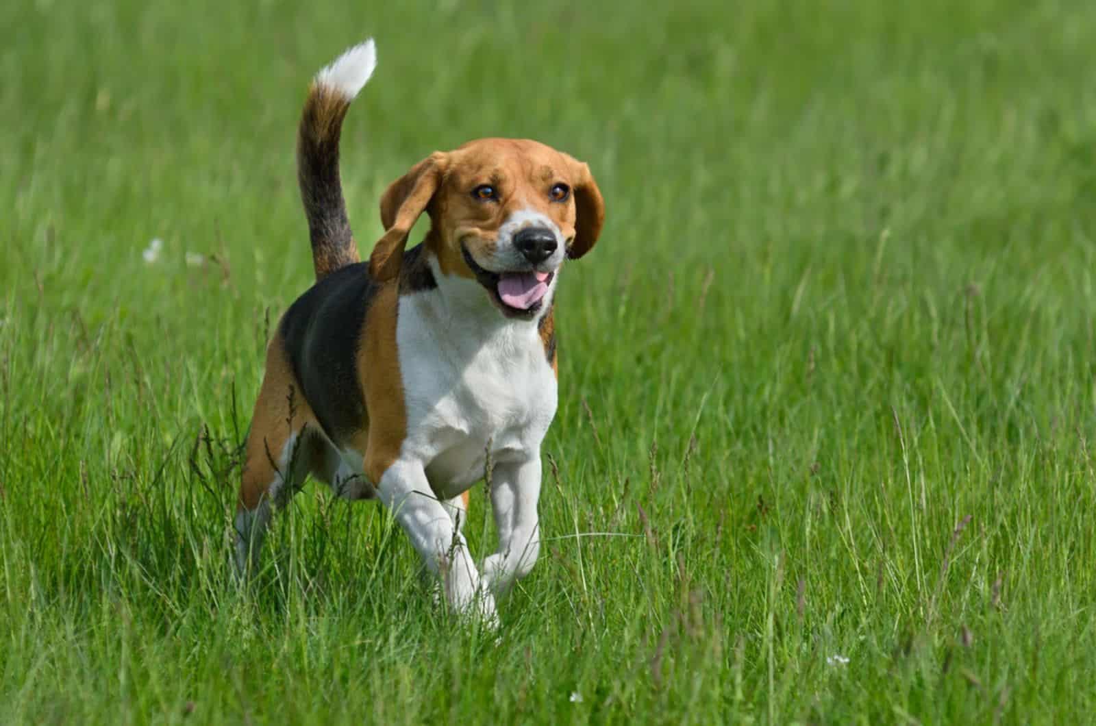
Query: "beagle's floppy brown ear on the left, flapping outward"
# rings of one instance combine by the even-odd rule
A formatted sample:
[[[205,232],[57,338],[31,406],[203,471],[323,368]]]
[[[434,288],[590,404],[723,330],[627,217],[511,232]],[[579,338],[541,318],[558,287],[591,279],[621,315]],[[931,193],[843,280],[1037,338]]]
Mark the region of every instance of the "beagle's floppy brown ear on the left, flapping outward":
[[[380,195],[380,224],[385,226],[385,235],[369,256],[369,275],[374,280],[392,280],[399,274],[408,235],[442,185],[446,160],[442,151],[431,154]]]

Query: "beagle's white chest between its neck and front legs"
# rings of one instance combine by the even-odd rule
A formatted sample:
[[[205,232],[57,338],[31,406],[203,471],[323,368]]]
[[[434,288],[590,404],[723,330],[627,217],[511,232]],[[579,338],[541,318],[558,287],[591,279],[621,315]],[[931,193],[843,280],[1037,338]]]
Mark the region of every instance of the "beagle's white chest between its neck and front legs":
[[[556,376],[532,324],[446,320],[412,298],[397,326],[407,404],[404,454],[453,497],[495,462],[538,455],[556,415]]]

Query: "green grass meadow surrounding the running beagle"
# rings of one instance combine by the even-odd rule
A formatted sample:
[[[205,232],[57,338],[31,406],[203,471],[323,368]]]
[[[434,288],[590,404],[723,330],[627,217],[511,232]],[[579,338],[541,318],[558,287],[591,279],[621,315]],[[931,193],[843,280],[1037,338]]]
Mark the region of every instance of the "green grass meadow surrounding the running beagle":
[[[638,8],[0,7],[0,722],[1092,717],[1096,3]],[[297,115],[369,34],[364,243],[478,136],[607,201],[498,643],[320,487],[253,595],[229,577],[264,340],[312,277]],[[489,517],[478,488],[478,557]]]

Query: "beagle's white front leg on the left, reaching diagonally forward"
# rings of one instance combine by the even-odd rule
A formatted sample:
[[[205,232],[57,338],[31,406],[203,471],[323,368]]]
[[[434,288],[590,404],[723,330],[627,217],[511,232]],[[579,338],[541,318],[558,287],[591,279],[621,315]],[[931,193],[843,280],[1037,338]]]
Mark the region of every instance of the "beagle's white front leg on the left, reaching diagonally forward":
[[[442,578],[449,605],[460,613],[478,614],[493,624],[496,620],[494,598],[480,589],[479,572],[468,553],[468,544],[431,490],[422,466],[397,461],[380,477],[377,494],[391,509],[426,567]]]

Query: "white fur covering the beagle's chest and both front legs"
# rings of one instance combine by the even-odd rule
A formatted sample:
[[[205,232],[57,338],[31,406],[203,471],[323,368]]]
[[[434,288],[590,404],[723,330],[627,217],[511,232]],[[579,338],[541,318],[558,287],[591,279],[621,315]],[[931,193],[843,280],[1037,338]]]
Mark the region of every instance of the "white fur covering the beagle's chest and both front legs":
[[[528,215],[515,225],[526,220],[539,222]],[[494,595],[528,575],[540,548],[540,441],[556,413],[556,376],[537,319],[503,317],[479,283],[444,275],[427,259],[437,288],[399,299],[408,433],[378,488],[442,576],[449,604],[494,623]],[[457,515],[467,515],[459,496],[484,476],[488,456],[499,551],[481,579]]]

